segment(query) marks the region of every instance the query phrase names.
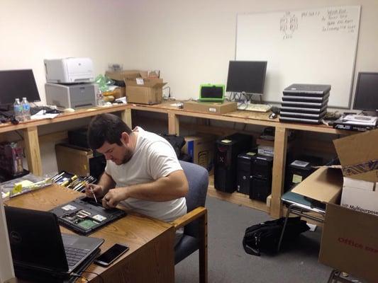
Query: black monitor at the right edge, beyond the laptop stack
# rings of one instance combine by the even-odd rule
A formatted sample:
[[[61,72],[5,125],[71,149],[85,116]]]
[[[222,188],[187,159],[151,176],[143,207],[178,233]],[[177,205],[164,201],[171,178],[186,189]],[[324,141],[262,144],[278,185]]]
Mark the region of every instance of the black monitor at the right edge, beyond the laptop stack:
[[[353,109],[378,111],[378,73],[358,73]]]

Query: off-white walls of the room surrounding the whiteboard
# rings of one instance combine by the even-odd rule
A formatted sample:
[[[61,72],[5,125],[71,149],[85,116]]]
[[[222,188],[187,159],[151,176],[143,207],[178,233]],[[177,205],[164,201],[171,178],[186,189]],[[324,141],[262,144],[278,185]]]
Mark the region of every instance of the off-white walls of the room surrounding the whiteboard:
[[[160,69],[173,96],[197,97],[201,83],[226,83],[237,13],[342,5],[362,6],[356,74],[378,71],[377,0],[0,0],[0,69],[32,68],[43,101],[43,59],[58,57],[91,57],[96,74]],[[41,152],[56,171],[53,145]]]

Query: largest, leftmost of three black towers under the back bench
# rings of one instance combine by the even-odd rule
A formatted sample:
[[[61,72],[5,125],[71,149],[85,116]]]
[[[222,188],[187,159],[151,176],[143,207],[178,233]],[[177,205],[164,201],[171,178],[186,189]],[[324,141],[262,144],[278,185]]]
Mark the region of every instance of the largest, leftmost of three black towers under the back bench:
[[[252,137],[232,134],[216,141],[214,187],[222,192],[235,192],[238,154],[252,146]]]

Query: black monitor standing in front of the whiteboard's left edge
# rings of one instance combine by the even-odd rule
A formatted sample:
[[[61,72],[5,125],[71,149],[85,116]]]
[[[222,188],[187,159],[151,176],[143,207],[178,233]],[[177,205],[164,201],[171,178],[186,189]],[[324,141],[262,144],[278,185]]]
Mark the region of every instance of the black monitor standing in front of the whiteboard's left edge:
[[[266,61],[230,61],[226,91],[262,94],[266,72]]]

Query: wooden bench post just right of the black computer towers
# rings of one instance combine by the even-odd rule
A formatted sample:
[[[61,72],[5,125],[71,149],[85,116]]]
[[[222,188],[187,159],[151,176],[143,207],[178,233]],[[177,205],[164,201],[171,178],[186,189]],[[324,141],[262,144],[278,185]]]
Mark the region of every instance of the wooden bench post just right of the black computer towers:
[[[287,154],[287,129],[276,127],[274,135],[274,161],[272,173],[272,201],[270,202],[270,216],[282,216],[281,196],[284,187],[285,163]]]

